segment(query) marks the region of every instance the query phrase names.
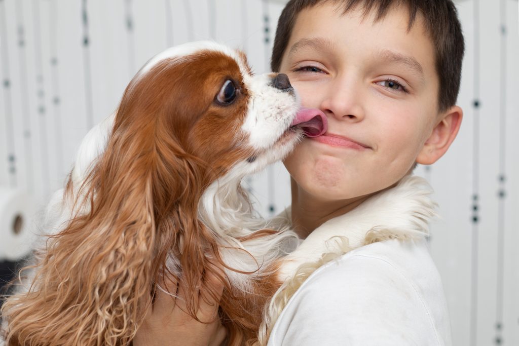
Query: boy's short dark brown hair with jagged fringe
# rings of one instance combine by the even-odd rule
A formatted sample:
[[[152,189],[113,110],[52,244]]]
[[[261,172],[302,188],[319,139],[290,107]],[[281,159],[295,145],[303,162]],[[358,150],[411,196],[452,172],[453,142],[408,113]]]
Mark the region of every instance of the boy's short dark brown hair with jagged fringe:
[[[270,61],[272,71],[279,72],[299,12],[325,2],[342,6],[343,14],[361,8],[363,16],[367,16],[374,10],[375,21],[383,19],[392,6],[406,6],[409,11],[408,30],[411,30],[419,13],[435,50],[436,72],[440,82],[439,111],[456,104],[465,44],[452,0],[290,0],[279,17]]]

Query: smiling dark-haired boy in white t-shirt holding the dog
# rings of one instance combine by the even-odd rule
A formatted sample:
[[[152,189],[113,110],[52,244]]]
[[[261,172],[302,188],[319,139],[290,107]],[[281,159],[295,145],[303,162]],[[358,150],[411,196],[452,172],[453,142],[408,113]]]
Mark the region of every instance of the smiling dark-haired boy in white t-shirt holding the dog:
[[[287,74],[303,106],[321,109],[329,123],[284,161],[301,238],[390,190],[416,163],[445,154],[462,119],[455,102],[463,47],[450,0],[286,5],[272,70]],[[269,345],[451,343],[441,281],[423,241],[363,246],[309,279]],[[184,326],[197,341],[201,333],[216,341],[214,325]]]

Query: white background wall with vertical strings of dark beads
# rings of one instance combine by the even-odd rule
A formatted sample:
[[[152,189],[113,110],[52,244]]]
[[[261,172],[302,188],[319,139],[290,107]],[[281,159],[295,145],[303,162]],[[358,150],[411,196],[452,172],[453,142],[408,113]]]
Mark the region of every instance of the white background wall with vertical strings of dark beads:
[[[62,186],[90,124],[113,112],[146,60],[171,45],[213,38],[241,47],[254,71],[266,72],[283,7],[261,0],[90,0],[84,26],[83,4],[0,0],[0,186],[26,189],[39,205]],[[454,344],[492,345],[499,338],[517,345],[518,5],[467,0],[458,10],[467,48],[458,100],[465,118],[449,152],[416,173],[429,179],[441,207],[430,246]],[[246,184],[264,215],[290,203],[281,164]],[[499,198],[500,190],[506,197]]]

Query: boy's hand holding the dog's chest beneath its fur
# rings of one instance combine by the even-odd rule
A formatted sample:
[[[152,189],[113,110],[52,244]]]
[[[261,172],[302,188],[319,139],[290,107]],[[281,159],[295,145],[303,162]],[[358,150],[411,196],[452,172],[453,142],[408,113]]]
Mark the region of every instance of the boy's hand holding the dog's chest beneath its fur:
[[[199,294],[198,319],[200,321],[213,321],[201,323],[184,312],[186,306],[182,280],[177,285],[176,280],[167,277],[165,282],[165,289],[176,294],[177,298],[157,289],[155,301],[146,312],[144,322],[133,339],[133,345],[220,346],[227,336],[227,330],[222,326],[218,317],[219,299],[223,292],[222,284],[216,278],[206,278],[204,282],[206,286],[217,287],[219,296],[218,301],[213,301],[210,297],[202,297],[203,292],[207,292],[206,289],[203,289],[202,293]]]

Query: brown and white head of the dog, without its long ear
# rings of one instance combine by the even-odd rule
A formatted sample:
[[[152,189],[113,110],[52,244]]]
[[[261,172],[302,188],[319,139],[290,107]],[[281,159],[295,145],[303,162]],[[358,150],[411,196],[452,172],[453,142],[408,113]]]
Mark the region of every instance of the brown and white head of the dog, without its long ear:
[[[304,133],[291,127],[299,100],[285,75],[255,76],[242,52],[211,42],[151,59],[130,82],[121,107],[132,111],[119,109],[126,119],[117,119],[116,127],[156,121],[160,138],[176,140],[216,178],[262,169],[288,154]]]

